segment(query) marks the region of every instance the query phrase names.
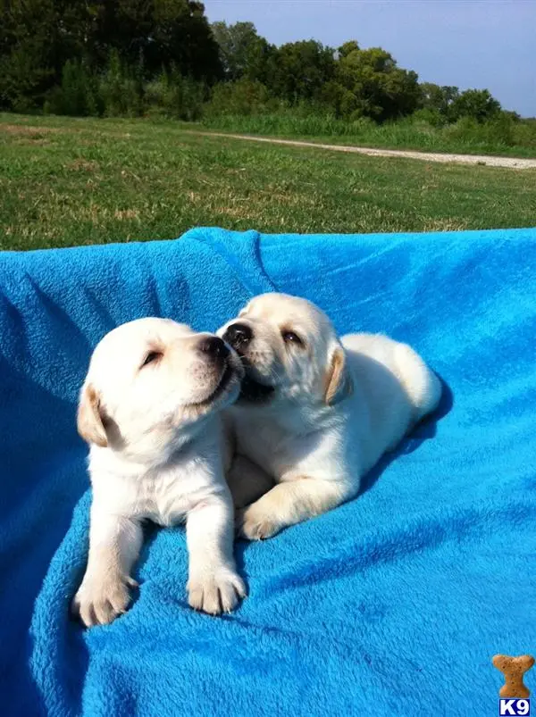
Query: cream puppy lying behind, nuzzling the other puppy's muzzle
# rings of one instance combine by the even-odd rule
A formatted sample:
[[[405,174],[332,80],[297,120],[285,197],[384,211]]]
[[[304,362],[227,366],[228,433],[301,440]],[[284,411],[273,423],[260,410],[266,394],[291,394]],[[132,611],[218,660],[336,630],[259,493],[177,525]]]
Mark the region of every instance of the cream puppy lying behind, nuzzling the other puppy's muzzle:
[[[229,410],[237,458],[228,477],[235,504],[247,505],[237,515],[245,538],[270,538],[356,496],[364,474],[440,401],[439,379],[410,346],[339,339],[306,299],[256,296],[218,334],[246,368]],[[266,475],[275,486],[249,504]]]

